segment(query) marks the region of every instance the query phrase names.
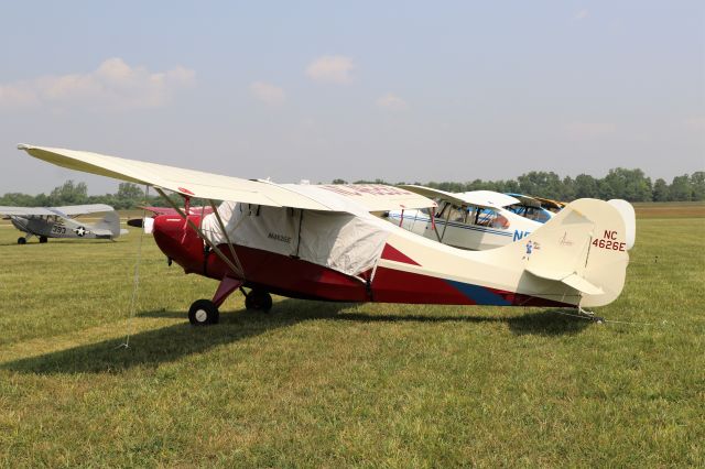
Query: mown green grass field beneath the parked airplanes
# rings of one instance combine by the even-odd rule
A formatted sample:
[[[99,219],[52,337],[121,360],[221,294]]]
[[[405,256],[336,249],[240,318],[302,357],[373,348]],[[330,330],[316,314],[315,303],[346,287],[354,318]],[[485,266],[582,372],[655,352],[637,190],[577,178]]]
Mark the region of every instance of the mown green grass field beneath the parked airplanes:
[[[638,207],[603,325],[285,298],[252,314],[234,295],[193,328],[184,312],[216,284],[167,268],[150,237],[128,323],[137,230],[20,247],[0,226],[0,466],[705,466],[694,207]]]

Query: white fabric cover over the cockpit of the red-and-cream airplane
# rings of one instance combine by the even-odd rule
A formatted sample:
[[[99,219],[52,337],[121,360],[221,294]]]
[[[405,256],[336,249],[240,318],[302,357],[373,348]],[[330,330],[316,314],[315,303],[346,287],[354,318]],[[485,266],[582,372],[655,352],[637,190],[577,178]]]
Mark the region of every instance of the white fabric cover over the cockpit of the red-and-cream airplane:
[[[227,237],[215,214],[206,216],[202,223],[205,236],[216,246],[229,239],[238,246],[297,255],[348,275],[373,268],[389,237],[389,223],[369,214],[355,216],[232,201],[220,204],[218,214]]]

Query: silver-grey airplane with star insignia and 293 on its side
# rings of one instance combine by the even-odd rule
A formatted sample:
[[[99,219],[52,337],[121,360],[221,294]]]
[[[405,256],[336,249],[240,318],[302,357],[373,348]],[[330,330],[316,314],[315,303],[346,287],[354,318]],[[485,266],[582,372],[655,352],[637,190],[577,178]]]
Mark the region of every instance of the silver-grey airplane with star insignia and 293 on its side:
[[[82,215],[105,216],[89,225],[75,218]],[[25,244],[35,236],[40,242],[48,238],[110,239],[128,231],[120,229],[120,217],[112,207],[105,204],[72,205],[66,207],[0,207],[0,215],[26,234],[18,238],[18,244]]]

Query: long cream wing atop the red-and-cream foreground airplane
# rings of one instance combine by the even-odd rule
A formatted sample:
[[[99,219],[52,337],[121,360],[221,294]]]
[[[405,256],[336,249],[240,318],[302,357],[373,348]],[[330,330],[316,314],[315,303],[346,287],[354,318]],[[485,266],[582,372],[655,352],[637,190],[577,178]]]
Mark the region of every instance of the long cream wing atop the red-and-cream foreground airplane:
[[[344,195],[339,190],[316,189],[316,186],[248,181],[75,150],[26,144],[20,144],[18,149],[69,170],[147,184],[191,197],[324,211],[349,211],[350,207],[357,207],[358,210],[365,207],[372,211],[372,209],[421,208],[419,206],[422,204],[423,207],[434,206],[432,200],[411,193],[404,196],[401,190],[399,190],[400,194],[384,194],[378,189],[378,193],[373,194],[370,189],[367,193],[358,190],[361,195]],[[341,199],[350,204],[340,203]],[[409,207],[404,207],[405,203],[409,203]]]

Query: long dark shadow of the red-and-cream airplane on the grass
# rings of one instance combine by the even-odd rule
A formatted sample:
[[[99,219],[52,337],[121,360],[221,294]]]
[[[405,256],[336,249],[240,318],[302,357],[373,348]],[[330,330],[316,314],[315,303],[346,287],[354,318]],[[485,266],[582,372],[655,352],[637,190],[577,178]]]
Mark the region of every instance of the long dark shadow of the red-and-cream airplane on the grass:
[[[349,312],[344,312],[345,309]],[[500,315],[378,315],[357,312],[355,305],[347,303],[313,303],[296,299],[275,303],[272,313],[226,312],[220,315],[220,324],[212,327],[191,326],[183,312],[156,310],[141,313],[139,316],[184,318],[184,323],[134,334],[130,337],[128,349],[119,347],[124,338],[110,339],[11,361],[2,364],[1,368],[39,374],[120,373],[133,367],[155,368],[161,363],[176,361],[182,357],[204,352],[220,345],[317,319],[380,324],[506,323],[518,336],[572,335],[578,334],[590,324],[585,319],[561,316],[555,313],[555,309],[530,310],[520,316],[505,317]]]

